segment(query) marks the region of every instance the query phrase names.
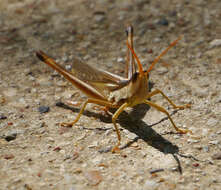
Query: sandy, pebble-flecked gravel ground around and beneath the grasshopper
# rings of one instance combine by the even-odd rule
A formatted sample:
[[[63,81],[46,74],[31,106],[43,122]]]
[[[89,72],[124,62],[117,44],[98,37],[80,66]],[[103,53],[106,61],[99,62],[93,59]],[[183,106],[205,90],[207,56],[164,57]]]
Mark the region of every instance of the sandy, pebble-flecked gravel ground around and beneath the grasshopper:
[[[194,189],[221,186],[220,0],[4,0],[0,3],[0,189]],[[73,128],[85,96],[35,56],[62,65],[75,57],[124,75],[125,26],[135,30],[144,67],[179,36],[151,72],[153,88],[191,109],[175,111],[179,127],[145,105],[118,119],[89,105]],[[64,104],[66,106],[64,106]]]

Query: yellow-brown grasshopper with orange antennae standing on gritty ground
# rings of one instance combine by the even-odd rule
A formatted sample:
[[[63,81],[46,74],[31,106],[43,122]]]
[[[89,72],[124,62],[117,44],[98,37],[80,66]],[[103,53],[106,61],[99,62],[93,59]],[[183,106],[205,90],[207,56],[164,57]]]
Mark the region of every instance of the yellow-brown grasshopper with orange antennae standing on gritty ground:
[[[165,49],[157,58],[155,58],[149,69],[144,71],[136,53],[134,52],[132,26],[127,27],[126,33],[128,48],[126,67],[127,72],[125,78],[109,73],[107,71],[92,68],[91,66],[81,62],[80,60],[72,64],[71,71],[67,71],[42,51],[36,53],[37,57],[41,61],[62,74],[76,88],[81,90],[89,97],[84,102],[76,119],[70,123],[62,123],[62,126],[73,126],[80,119],[88,103],[102,105],[106,108],[117,109],[112,116],[112,122],[117,133],[118,142],[112,149],[112,152],[119,150],[119,145],[121,141],[121,136],[116,124],[116,119],[118,118],[120,113],[125,110],[125,108],[133,107],[137,104],[148,104],[158,111],[165,113],[171,121],[173,127],[179,133],[191,133],[190,130],[178,128],[173,122],[169,113],[163,107],[148,100],[156,94],[161,94],[173,106],[174,109],[184,109],[190,107],[189,104],[177,106],[161,90],[155,89],[154,91],[149,92],[148,86],[149,72],[153,69],[154,65],[159,61],[159,59],[164,54],[166,54],[170,48],[175,46],[180,38],[172,42],[169,47],[167,47],[167,49]],[[138,67],[138,71],[136,71],[136,67]]]

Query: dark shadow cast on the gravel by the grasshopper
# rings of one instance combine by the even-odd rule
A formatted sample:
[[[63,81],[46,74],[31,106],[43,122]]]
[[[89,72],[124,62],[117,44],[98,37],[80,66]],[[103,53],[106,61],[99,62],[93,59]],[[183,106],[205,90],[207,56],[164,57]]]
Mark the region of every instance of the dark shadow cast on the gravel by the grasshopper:
[[[65,109],[72,110],[73,112],[79,112],[79,108],[73,108],[70,107],[62,102],[56,103],[56,106],[62,107]],[[172,144],[170,141],[165,139],[162,135],[157,133],[155,130],[152,129],[153,126],[158,125],[159,123],[165,121],[168,119],[168,117],[162,118],[160,121],[148,125],[144,121],[142,121],[142,118],[145,116],[146,112],[150,109],[150,106],[146,104],[139,104],[133,107],[133,110],[130,113],[127,113],[126,111],[123,111],[121,115],[118,118],[118,123],[121,127],[127,129],[128,131],[135,133],[137,135],[136,138],[128,142],[127,144],[120,147],[120,149],[125,149],[129,147],[134,142],[138,141],[138,139],[142,139],[145,141],[149,146],[154,147],[155,149],[159,150],[160,152],[163,152],[164,154],[172,154],[173,158],[177,162],[177,171],[182,174],[182,166],[180,163],[179,158],[177,155],[179,155],[179,147],[177,145]],[[112,113],[114,113],[115,110],[110,110]],[[177,111],[175,110],[172,112],[171,115],[174,115]],[[85,110],[84,115],[88,117],[95,117],[99,118],[104,123],[112,123],[111,116],[102,116],[100,113],[90,112],[88,110]],[[103,129],[103,128],[87,128],[88,130],[110,130],[113,129],[112,127],[110,129]],[[110,152],[112,147],[108,147],[104,150],[99,150],[100,153],[102,152]]]

